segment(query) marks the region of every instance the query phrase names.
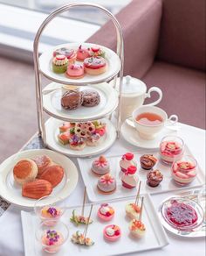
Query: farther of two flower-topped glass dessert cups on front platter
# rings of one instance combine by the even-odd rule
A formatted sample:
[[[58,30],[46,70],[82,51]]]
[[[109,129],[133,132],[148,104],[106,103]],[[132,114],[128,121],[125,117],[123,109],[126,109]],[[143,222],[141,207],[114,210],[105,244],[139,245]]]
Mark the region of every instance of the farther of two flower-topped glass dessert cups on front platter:
[[[58,202],[57,202],[58,201]],[[65,212],[64,203],[56,196],[44,196],[34,205],[34,211],[41,220],[57,221]]]

